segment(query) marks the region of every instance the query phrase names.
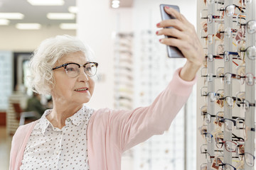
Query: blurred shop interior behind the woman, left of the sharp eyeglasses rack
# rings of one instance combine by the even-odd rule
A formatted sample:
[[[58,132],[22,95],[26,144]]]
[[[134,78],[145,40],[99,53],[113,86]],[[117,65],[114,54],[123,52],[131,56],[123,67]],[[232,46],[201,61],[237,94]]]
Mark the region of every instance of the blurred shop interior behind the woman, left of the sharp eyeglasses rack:
[[[51,96],[28,88],[28,60],[42,40],[73,35],[99,63],[92,108],[149,105],[186,60],[170,60],[159,43],[159,4],[178,5],[197,27],[196,0],[0,0],[0,170],[9,167],[11,137],[40,118]],[[129,85],[125,91],[122,85]],[[171,128],[125,152],[122,170],[196,169],[196,87]]]

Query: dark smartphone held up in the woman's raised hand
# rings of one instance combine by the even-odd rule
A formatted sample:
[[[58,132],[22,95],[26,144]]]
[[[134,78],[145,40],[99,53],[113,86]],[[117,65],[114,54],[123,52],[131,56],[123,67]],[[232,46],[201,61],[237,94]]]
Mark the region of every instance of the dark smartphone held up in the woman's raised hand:
[[[178,6],[160,4],[161,19],[162,20],[175,19],[174,16],[171,16],[168,13],[166,13],[166,11],[164,11],[164,6],[169,6],[171,8],[174,8],[174,9],[176,9],[176,11],[179,12]],[[172,28],[172,27],[167,27],[167,28]],[[166,38],[170,38],[170,36],[166,36]],[[179,50],[177,47],[173,47],[170,45],[166,45],[166,46],[167,46],[168,57],[170,57],[170,58],[183,58],[184,57],[182,55],[181,50]]]

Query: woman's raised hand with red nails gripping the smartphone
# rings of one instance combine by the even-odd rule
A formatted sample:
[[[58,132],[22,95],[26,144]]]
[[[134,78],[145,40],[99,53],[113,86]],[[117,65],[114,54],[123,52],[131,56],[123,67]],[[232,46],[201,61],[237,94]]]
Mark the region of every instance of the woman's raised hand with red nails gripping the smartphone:
[[[201,66],[204,60],[203,47],[194,26],[179,13],[176,6],[171,8],[173,6],[161,4],[160,7],[163,21],[156,24],[156,26],[162,29],[158,30],[156,35],[166,35],[160,42],[167,45],[167,47],[173,47],[172,50],[177,47],[188,62]]]

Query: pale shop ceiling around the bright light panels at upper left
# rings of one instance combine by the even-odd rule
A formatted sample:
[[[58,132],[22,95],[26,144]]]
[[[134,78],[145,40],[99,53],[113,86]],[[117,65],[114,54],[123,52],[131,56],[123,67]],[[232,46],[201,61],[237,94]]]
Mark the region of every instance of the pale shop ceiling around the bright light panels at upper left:
[[[26,0],[0,0],[0,13],[23,13],[23,20],[10,20],[10,26],[14,26],[16,23],[41,23],[43,26],[54,26],[60,23],[75,23],[75,19],[50,20],[46,17],[47,13],[68,13],[68,7],[75,6],[75,0],[64,1],[65,4],[63,6],[32,6]],[[120,0],[120,7],[131,7],[132,1],[133,0]]]

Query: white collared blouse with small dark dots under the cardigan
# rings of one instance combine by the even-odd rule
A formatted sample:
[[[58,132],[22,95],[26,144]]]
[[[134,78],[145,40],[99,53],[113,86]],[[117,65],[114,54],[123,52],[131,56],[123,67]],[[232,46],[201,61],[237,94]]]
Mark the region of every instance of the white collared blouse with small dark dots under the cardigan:
[[[50,112],[45,111],[31,132],[20,169],[89,169],[86,132],[93,110],[83,105],[62,129],[46,118]]]

